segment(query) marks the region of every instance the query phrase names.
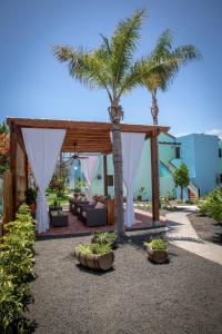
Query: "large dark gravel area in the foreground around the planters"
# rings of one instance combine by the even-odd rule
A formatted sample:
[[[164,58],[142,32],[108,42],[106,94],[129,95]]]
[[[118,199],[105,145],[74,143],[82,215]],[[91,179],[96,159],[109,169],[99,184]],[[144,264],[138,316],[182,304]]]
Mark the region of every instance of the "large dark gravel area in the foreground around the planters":
[[[170,246],[170,263],[154,265],[131,234],[114,268],[94,273],[73,258],[90,237],[37,243],[30,317],[41,334],[222,333],[222,266]]]

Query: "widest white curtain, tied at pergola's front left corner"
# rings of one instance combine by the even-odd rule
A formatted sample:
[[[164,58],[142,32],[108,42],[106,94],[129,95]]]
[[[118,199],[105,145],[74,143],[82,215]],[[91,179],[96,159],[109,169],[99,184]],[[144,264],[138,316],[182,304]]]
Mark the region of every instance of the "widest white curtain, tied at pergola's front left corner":
[[[65,130],[22,128],[22,135],[39,188],[37,196],[38,232],[46,232],[49,228],[49,217],[44,190],[52,178]]]

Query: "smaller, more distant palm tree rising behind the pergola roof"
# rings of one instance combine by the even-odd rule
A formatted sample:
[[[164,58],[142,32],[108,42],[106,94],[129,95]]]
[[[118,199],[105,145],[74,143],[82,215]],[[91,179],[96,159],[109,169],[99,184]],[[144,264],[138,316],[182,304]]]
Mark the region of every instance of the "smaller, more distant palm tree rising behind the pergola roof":
[[[167,29],[159,37],[152,53],[144,59],[144,66],[147,63],[149,68],[150,63],[153,61],[164,65],[162,67],[154,68],[148,73],[144,73],[140,80],[140,84],[144,86],[151,94],[151,114],[153,118],[153,125],[158,125],[158,90],[165,91],[170,84],[172,84],[182,66],[201,58],[200,52],[194,46],[188,45],[173,49],[172,41],[172,32]]]

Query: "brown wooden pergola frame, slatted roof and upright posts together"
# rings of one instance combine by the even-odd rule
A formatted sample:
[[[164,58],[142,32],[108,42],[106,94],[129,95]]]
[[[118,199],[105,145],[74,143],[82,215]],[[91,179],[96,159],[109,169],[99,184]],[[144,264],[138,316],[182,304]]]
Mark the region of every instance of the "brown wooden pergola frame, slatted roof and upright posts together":
[[[65,137],[62,151],[72,153],[101,153],[104,167],[104,195],[107,195],[107,155],[112,153],[110,131],[111,122],[52,120],[32,118],[8,118],[10,128],[10,181],[8,215],[6,220],[14,217],[18,205],[24,199],[28,188],[28,157],[22,138],[21,128],[49,128],[65,129]],[[153,222],[159,220],[159,158],[158,158],[158,135],[168,132],[169,127],[128,125],[121,124],[121,131],[143,132],[151,143],[151,173],[152,173],[152,210]],[[149,167],[148,167],[149,168]]]

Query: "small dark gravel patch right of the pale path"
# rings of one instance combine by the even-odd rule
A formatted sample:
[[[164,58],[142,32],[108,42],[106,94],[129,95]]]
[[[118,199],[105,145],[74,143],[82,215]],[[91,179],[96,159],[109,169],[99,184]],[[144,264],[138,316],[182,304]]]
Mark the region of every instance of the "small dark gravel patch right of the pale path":
[[[202,216],[199,214],[192,214],[188,216],[189,220],[195,228],[198,236],[206,242],[213,243],[212,237],[215,233],[222,233],[222,227],[216,225],[215,222],[206,216]],[[214,243],[216,245],[221,245],[222,243]],[[222,331],[221,331],[222,333]]]

